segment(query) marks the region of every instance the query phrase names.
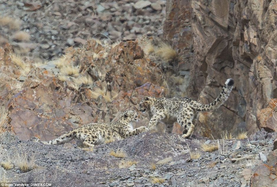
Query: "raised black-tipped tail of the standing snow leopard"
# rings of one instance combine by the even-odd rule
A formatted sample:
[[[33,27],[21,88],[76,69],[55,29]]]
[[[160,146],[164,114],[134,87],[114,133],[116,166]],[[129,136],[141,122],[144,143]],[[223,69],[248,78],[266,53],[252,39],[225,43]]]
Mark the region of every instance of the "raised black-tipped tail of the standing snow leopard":
[[[234,86],[234,80],[232,78],[228,78],[225,82],[224,87],[222,88],[221,93],[217,96],[217,98],[210,104],[201,104],[197,101],[192,102],[192,108],[197,111],[208,111],[217,109],[220,107],[229,97],[230,92],[232,91]]]

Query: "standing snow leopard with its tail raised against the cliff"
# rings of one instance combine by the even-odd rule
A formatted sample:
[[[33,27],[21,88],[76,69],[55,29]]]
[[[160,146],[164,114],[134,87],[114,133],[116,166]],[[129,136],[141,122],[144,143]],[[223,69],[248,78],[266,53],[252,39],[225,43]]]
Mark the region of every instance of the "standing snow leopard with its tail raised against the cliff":
[[[201,104],[186,97],[155,98],[145,96],[139,103],[140,111],[145,113],[149,110],[153,114],[148,125],[149,130],[154,129],[159,120],[170,116],[176,118],[177,122],[184,127],[182,137],[188,138],[193,133],[192,121],[197,117],[198,112],[217,109],[221,106],[228,99],[233,85],[234,80],[232,78],[227,79],[219,96],[210,104]]]

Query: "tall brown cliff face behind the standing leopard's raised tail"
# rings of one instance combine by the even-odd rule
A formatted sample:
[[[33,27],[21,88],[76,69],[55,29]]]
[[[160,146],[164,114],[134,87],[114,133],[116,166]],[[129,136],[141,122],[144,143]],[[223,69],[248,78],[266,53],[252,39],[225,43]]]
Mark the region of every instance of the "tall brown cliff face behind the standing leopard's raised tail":
[[[196,131],[219,136],[224,130],[272,130],[267,119],[276,107],[268,103],[277,98],[276,0],[170,0],[166,10],[164,37],[180,56],[176,73],[189,72],[186,96],[209,103],[227,78],[235,80],[224,106],[199,115]]]

